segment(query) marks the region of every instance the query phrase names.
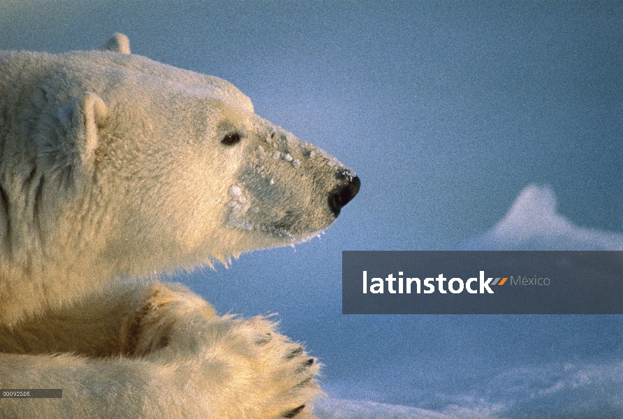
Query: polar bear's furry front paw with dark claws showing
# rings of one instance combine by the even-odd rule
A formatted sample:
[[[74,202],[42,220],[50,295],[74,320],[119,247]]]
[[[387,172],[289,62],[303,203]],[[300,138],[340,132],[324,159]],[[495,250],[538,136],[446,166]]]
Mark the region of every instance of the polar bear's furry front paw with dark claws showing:
[[[207,354],[223,362],[227,391],[244,400],[239,401],[242,411],[231,413],[244,417],[253,412],[252,418],[307,416],[304,409],[321,393],[314,382],[319,365],[300,344],[275,332],[276,324],[263,317],[224,317],[212,323],[216,335]]]

